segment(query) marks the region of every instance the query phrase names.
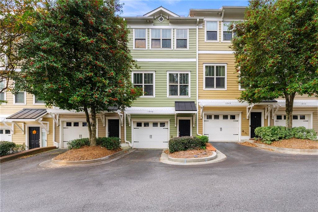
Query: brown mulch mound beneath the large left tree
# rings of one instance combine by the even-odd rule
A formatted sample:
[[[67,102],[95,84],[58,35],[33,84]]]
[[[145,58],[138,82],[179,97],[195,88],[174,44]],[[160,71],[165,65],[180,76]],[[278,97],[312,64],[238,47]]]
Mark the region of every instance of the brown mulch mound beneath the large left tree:
[[[91,160],[103,158],[107,155],[112,155],[115,152],[121,151],[121,148],[117,150],[108,150],[105,147],[101,146],[83,146],[79,149],[71,149],[67,152],[64,152],[55,158],[54,160],[65,160],[65,161],[73,161],[73,160]]]

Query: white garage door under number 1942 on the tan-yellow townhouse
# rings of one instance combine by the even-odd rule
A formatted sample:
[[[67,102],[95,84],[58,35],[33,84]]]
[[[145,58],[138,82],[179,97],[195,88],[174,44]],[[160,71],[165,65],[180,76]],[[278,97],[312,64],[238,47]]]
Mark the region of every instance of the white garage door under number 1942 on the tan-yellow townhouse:
[[[238,141],[238,114],[205,114],[204,135],[209,141]]]

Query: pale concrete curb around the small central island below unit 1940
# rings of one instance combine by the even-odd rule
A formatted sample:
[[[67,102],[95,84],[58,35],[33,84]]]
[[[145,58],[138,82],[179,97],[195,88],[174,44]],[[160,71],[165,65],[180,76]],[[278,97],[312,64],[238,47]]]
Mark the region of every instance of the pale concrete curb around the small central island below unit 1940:
[[[189,160],[189,159],[191,160],[192,158],[186,159],[186,161],[185,161],[185,159],[172,158],[172,159],[180,159],[181,160],[181,162],[176,162],[176,161],[170,160],[171,158],[169,159],[168,154],[166,154],[164,151],[165,150],[162,150],[160,162],[165,163],[165,164],[170,164],[170,165],[203,165],[203,164],[221,162],[221,161],[226,159],[225,154],[223,154],[222,152],[217,150],[215,152],[215,156],[213,153],[213,155],[207,157],[207,158],[211,158],[210,160],[207,160],[207,161],[205,161],[205,159],[207,159],[207,158],[195,158],[195,159],[203,159],[203,161],[200,161],[200,162],[189,162],[189,161],[187,162],[187,160]]]

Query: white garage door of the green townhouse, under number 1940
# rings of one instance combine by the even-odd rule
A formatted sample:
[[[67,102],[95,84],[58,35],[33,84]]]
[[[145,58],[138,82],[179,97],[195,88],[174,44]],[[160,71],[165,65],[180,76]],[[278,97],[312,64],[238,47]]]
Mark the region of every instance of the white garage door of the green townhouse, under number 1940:
[[[134,148],[168,149],[168,122],[134,122]]]

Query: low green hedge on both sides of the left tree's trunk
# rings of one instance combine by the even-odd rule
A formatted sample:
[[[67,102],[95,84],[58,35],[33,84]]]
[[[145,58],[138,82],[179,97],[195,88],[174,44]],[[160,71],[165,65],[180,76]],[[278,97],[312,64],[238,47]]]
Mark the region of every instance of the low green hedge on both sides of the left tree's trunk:
[[[88,138],[79,138],[72,141],[67,142],[68,149],[79,149],[82,146],[89,146]],[[120,138],[117,137],[98,137],[96,138],[96,144],[99,146],[106,147],[106,149],[114,150],[119,149],[121,147]]]

